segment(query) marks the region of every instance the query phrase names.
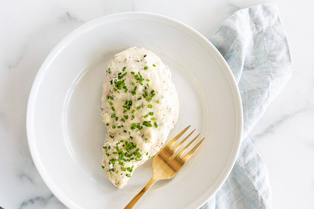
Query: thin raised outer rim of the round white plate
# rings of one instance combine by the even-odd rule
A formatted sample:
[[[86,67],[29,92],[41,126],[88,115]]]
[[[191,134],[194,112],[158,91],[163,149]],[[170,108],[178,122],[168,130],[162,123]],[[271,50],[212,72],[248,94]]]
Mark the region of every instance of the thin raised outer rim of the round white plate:
[[[66,196],[62,195],[62,191],[58,189],[57,185],[54,185],[52,183],[52,180],[49,178],[48,175],[46,175],[46,172],[44,170],[44,167],[41,163],[41,159],[38,155],[37,149],[36,149],[36,143],[35,143],[35,137],[33,133],[33,110],[34,110],[34,104],[36,101],[37,91],[38,88],[41,85],[41,80],[43,75],[45,74],[47,68],[53,62],[54,58],[62,51],[64,47],[67,46],[68,43],[70,43],[72,40],[74,40],[77,36],[83,34],[88,29],[92,29],[94,27],[98,27],[101,24],[104,24],[104,22],[108,21],[114,21],[118,18],[142,18],[142,19],[151,19],[155,21],[160,21],[165,24],[171,25],[173,27],[176,27],[178,29],[181,29],[182,31],[186,32],[187,34],[190,34],[194,39],[198,40],[201,44],[203,44],[204,47],[215,57],[219,65],[221,66],[222,70],[224,71],[232,93],[233,93],[233,100],[235,102],[235,109],[236,109],[236,134],[235,134],[235,142],[233,144],[233,149],[230,153],[229,160],[225,166],[225,169],[223,173],[218,177],[213,190],[215,191],[211,196],[209,196],[205,201],[201,201],[198,208],[203,206],[223,185],[225,180],[230,175],[230,172],[236,162],[240,145],[241,145],[241,138],[243,133],[243,108],[242,108],[242,101],[241,101],[241,95],[239,88],[236,83],[236,79],[232,74],[232,71],[227,64],[224,57],[220,54],[220,52],[216,49],[216,47],[208,40],[206,39],[202,34],[200,34],[198,31],[193,29],[192,27],[188,26],[187,24],[184,24],[176,19],[156,14],[156,13],[148,13],[148,12],[122,12],[122,13],[114,13],[106,16],[102,16],[96,19],[93,19],[81,26],[79,26],[77,29],[73,30],[71,33],[66,35],[61,41],[59,41],[55,47],[50,51],[50,53],[46,56],[45,60],[41,64],[35,79],[33,81],[30,95],[27,103],[27,111],[26,111],[26,133],[27,133],[27,140],[28,140],[28,146],[30,149],[30,154],[32,157],[32,160],[34,162],[34,165],[39,172],[41,178],[49,188],[49,190],[57,197],[58,200],[62,202],[65,206],[72,208],[75,206],[76,208],[80,208],[77,206],[73,201],[69,200]],[[222,177],[223,176],[223,177]]]

